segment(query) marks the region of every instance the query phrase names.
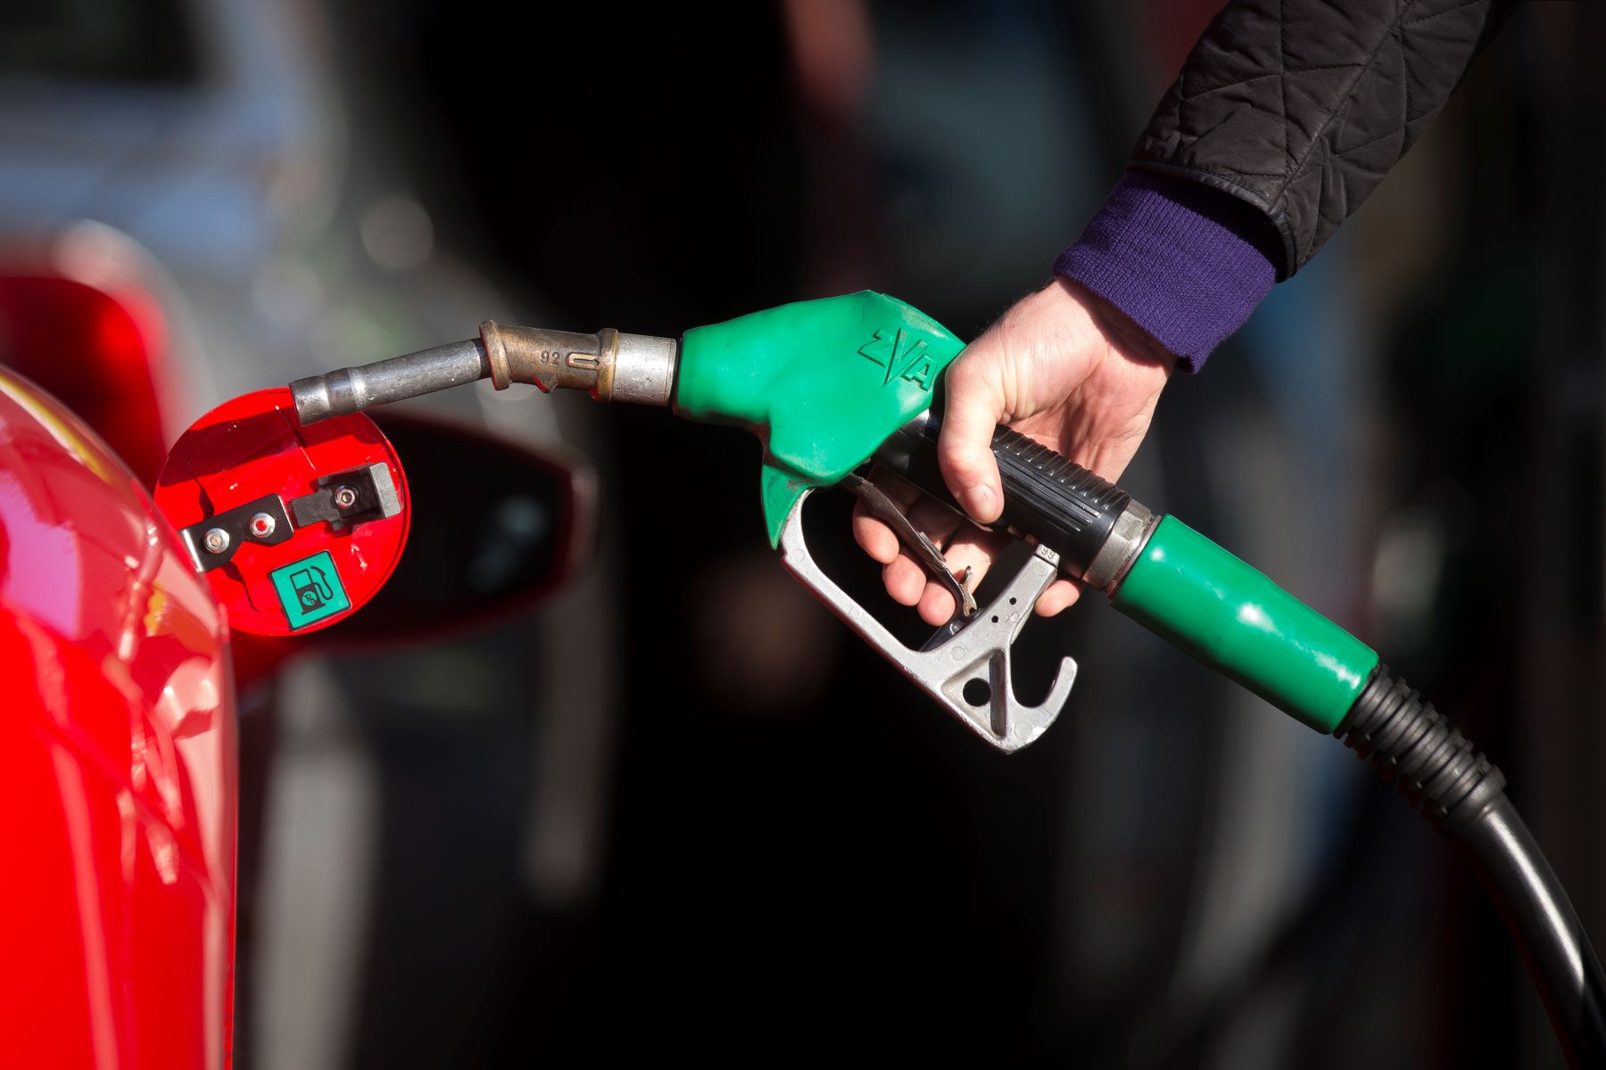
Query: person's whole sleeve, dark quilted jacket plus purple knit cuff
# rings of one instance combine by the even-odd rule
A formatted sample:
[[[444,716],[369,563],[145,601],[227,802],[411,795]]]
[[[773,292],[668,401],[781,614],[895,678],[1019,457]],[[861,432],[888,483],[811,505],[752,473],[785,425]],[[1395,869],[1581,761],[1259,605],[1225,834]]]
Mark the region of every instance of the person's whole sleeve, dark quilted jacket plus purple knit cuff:
[[[1233,0],[1055,263],[1198,371],[1444,107],[1511,0]]]

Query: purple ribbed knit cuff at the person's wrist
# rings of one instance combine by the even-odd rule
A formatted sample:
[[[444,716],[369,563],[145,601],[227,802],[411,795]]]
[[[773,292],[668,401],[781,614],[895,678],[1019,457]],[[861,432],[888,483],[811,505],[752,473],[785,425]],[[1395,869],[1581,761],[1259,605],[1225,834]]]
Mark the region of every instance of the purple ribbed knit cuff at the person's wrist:
[[[1270,292],[1278,249],[1267,218],[1232,194],[1129,170],[1054,271],[1119,308],[1196,372]]]

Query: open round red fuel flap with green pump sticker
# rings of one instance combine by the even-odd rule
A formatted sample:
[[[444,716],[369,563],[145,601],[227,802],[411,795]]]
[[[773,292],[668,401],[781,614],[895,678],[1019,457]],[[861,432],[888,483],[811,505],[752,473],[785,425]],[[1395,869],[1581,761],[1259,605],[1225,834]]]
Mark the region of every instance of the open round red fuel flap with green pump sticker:
[[[408,531],[406,476],[371,419],[302,427],[284,387],[228,401],[185,432],[156,505],[241,632],[313,632],[390,578]]]

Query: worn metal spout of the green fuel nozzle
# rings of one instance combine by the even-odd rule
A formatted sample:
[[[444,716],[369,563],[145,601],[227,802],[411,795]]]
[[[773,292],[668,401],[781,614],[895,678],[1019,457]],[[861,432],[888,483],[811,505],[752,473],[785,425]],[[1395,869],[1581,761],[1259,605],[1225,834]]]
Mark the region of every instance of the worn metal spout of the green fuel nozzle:
[[[675,338],[504,327],[487,319],[480,337],[389,361],[342,367],[291,383],[302,424],[490,379],[496,390],[535,383],[543,391],[585,390],[599,401],[668,404],[675,393]]]

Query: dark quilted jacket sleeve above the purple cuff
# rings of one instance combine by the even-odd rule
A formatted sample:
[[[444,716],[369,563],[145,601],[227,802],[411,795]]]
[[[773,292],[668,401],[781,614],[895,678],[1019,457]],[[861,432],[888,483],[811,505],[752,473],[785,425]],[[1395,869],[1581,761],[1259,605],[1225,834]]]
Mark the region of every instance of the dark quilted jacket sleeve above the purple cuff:
[[[1444,107],[1513,0],[1230,0],[1131,165],[1262,210],[1304,266]]]

